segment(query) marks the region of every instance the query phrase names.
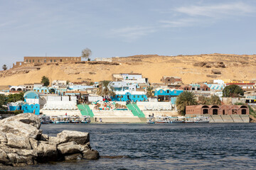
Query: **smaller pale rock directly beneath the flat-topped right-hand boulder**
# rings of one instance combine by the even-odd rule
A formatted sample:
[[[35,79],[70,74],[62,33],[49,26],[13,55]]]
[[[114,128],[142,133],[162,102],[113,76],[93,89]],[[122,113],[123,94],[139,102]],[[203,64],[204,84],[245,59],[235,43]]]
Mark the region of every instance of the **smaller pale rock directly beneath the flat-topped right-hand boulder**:
[[[76,154],[82,152],[82,148],[76,142],[68,142],[58,145],[60,154]]]

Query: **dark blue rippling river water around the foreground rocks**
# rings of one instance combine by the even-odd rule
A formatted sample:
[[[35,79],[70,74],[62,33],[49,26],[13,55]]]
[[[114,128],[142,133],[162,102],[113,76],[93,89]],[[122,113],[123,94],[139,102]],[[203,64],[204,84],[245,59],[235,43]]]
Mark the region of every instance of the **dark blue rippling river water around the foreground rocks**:
[[[11,169],[256,169],[256,124],[78,124],[41,129],[50,136],[62,130],[90,132],[91,146],[102,158]]]

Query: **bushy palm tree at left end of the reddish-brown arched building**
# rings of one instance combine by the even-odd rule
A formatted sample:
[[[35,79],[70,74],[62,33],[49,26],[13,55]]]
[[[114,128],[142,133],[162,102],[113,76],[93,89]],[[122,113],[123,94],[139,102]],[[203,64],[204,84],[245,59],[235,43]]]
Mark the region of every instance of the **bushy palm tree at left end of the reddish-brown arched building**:
[[[191,91],[183,91],[176,99],[176,107],[181,115],[186,114],[186,106],[197,105],[196,96]]]

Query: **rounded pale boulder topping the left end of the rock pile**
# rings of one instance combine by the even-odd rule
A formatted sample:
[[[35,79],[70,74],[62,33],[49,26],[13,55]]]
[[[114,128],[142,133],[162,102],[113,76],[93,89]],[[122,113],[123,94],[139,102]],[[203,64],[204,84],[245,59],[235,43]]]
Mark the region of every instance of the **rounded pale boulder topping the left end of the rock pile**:
[[[33,125],[37,129],[39,129],[40,126],[41,126],[41,121],[38,118],[38,116],[33,115],[31,113],[21,113],[21,114],[18,114],[16,116],[11,116],[9,118],[5,118],[5,119],[0,121],[0,124],[11,122],[11,121],[14,121],[14,120],[20,121],[22,123],[26,123],[28,125]]]

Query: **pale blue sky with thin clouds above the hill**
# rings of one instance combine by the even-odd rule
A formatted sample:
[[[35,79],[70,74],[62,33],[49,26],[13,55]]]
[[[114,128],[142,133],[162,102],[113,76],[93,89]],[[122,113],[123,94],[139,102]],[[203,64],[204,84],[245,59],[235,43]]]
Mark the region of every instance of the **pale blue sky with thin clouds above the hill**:
[[[255,0],[0,0],[0,66],[24,56],[256,54]],[[0,67],[1,68],[1,67]]]

